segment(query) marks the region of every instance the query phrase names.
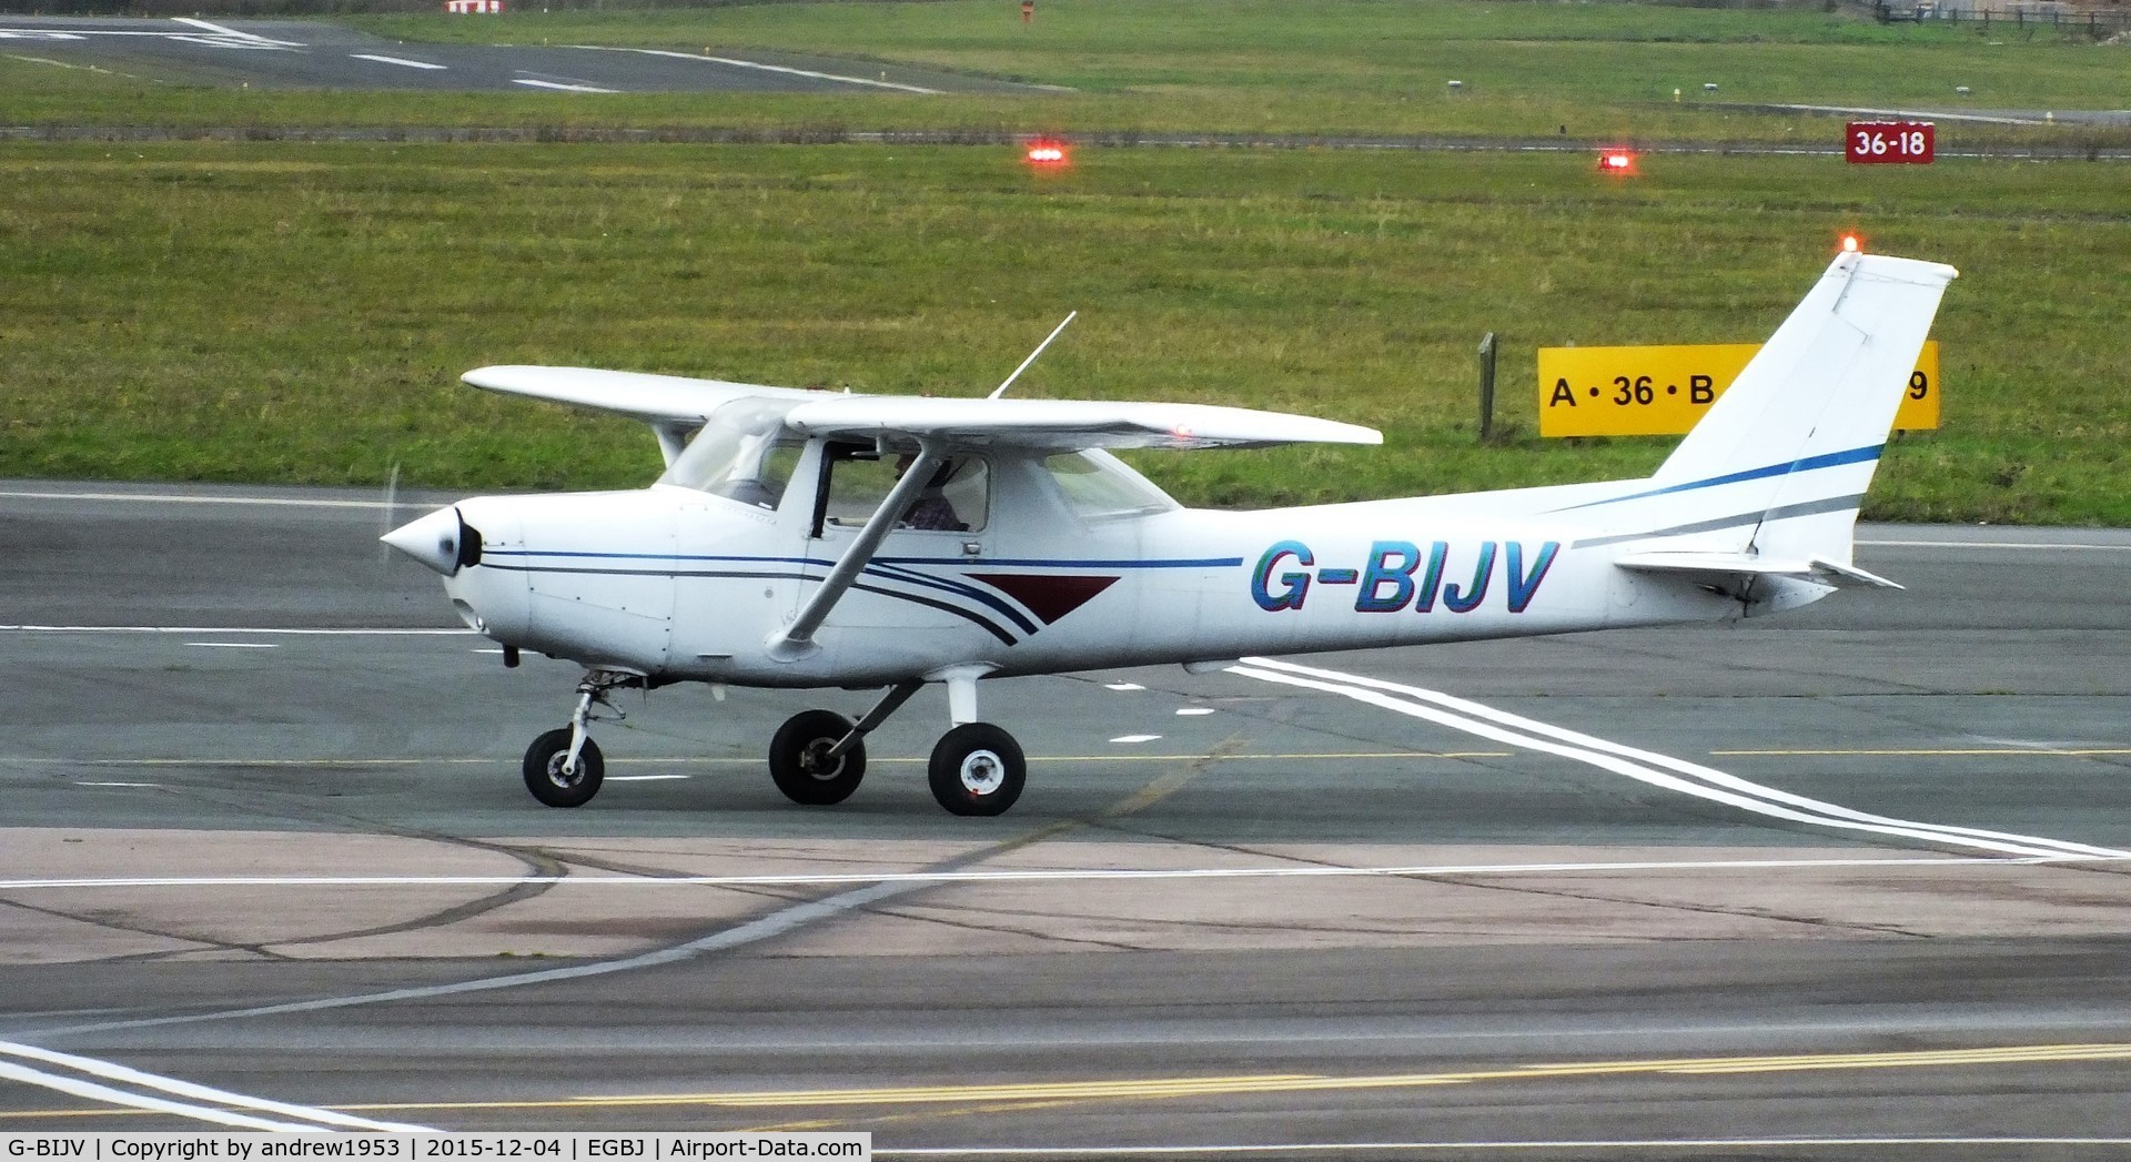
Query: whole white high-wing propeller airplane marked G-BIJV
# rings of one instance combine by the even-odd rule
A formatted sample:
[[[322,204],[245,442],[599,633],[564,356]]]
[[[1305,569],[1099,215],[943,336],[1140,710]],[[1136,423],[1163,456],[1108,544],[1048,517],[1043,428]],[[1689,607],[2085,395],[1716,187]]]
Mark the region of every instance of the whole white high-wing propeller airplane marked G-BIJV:
[[[771,738],[776,787],[820,806],[859,787],[867,731],[942,682],[933,797],[999,814],[1027,763],[980,721],[982,678],[1728,620],[1892,586],[1852,565],[1852,531],[1952,277],[1841,254],[1649,478],[1264,512],[1187,510],[1106,450],[1383,437],[1006,384],[912,399],[484,367],[465,382],[646,420],[665,473],[477,497],[384,542],[443,574],[505,665],[584,665],[569,725],[524,757],[548,806],[599,791],[588,725],[618,714],[616,689],[884,687],[857,721],[803,710]]]

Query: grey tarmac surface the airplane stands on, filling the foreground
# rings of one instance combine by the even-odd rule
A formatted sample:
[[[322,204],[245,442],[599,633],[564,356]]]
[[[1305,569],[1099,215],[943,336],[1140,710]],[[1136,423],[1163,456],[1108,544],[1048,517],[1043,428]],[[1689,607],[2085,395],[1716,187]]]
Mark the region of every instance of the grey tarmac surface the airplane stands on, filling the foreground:
[[[518,755],[575,669],[373,539],[441,499],[0,482],[0,1132],[2131,1149],[2131,535],[1869,527],[1905,593],[1739,627],[987,682],[1034,759],[989,821],[925,791],[938,693],[801,810],[769,733],[867,695],[669,689],[560,812]]]

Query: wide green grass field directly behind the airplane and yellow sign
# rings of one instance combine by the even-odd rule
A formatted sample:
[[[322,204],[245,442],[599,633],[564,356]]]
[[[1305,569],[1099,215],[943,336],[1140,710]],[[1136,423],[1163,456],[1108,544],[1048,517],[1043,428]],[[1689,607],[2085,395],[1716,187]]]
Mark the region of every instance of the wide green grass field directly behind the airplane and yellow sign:
[[[1191,501],[1641,471],[1539,441],[1532,348],[1752,341],[1841,228],[1967,271],[1946,431],[1882,518],[2127,522],[2131,188],[2108,164],[965,147],[0,145],[0,475],[633,484],[627,422],[456,384],[578,362],[976,394],[1195,399],[1385,450],[1151,456]],[[1475,345],[1502,416],[1475,441]]]

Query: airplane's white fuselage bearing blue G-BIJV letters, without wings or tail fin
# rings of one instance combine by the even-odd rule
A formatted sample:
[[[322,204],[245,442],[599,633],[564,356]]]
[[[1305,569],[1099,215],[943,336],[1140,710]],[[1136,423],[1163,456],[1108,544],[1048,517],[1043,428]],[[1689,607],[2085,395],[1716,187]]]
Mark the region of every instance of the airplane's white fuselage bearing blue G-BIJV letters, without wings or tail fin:
[[[803,657],[769,648],[850,548],[831,471],[788,450],[774,490],[667,482],[477,497],[479,550],[445,578],[497,642],[654,680],[876,687],[987,674],[1225,661],[1617,625],[1715,620],[1741,603],[1656,584],[1577,548],[1588,529],[1487,505],[1372,501],[1185,510],[1102,454],[965,456],[948,520],[895,529]],[[865,458],[865,456],[861,456]],[[959,493],[957,493],[959,488]],[[735,488],[725,488],[735,493]],[[837,501],[840,503],[840,501]]]

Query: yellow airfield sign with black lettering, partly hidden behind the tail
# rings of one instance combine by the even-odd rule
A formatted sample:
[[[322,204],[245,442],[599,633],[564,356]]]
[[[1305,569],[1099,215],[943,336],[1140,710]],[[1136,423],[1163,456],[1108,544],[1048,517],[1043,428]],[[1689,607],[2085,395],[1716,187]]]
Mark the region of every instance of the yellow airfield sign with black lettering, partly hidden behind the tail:
[[[1539,348],[1539,435],[1677,435],[1745,369],[1760,343]],[[1939,341],[1926,341],[1894,414],[1899,431],[1939,426]]]

